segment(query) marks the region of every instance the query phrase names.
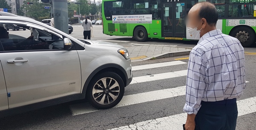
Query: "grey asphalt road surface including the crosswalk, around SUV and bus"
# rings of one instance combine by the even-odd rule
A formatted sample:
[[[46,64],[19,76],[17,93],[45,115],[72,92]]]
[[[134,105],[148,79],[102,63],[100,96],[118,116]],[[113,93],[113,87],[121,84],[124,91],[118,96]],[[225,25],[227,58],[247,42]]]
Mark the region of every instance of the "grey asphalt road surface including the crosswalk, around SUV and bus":
[[[73,25],[73,28],[74,32],[71,36],[83,38],[81,25]],[[93,29],[95,35],[93,40],[112,40],[124,46],[129,46],[130,43],[139,43],[131,37],[106,36],[102,34],[101,25],[93,25]],[[9,32],[20,33],[22,31],[15,32],[11,30]],[[196,42],[151,40],[145,44],[171,44],[194,47]],[[245,51],[256,53],[256,47],[245,48]],[[181,126],[181,124],[185,123],[185,120],[180,115],[183,113],[182,109],[185,103],[185,93],[183,93],[182,86],[186,84],[186,76],[183,75],[183,72],[187,69],[188,60],[177,60],[177,58],[186,57],[189,57],[189,55],[132,62],[134,66],[133,75],[136,82],[132,82],[125,88],[125,97],[123,98],[125,101],[121,101],[123,106],[92,111],[90,105],[87,105],[84,100],[67,102],[2,118],[0,119],[0,130],[107,130],[112,128],[125,130],[125,127],[122,126],[130,124],[136,124],[137,129],[126,130],[178,130],[177,128],[180,127],[166,128],[164,126],[169,124]],[[240,107],[241,111],[239,113],[244,114],[238,117],[237,130],[255,130],[256,101],[250,99],[256,97],[256,80],[253,80],[256,76],[256,55],[246,53],[245,58],[246,80],[249,83],[247,83],[244,94],[239,99],[246,102],[245,105]],[[165,63],[167,65],[160,66],[157,63]],[[145,69],[146,67],[142,65],[153,68]],[[177,75],[175,76],[172,72],[177,73]],[[84,108],[81,108],[81,106],[84,106]],[[248,106],[250,107],[248,108]],[[179,118],[172,119],[172,117]],[[164,124],[164,121],[167,124],[166,122]],[[175,121],[176,123],[173,124]],[[138,127],[139,124],[141,127]],[[133,125],[130,125],[130,127],[133,127]]]

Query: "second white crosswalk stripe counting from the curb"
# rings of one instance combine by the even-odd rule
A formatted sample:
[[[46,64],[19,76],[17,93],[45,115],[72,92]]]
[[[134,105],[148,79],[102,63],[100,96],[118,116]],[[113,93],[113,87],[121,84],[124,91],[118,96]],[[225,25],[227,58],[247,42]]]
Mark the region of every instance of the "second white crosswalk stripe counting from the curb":
[[[149,82],[149,81],[155,81],[155,80],[163,80],[163,79],[181,77],[186,75],[187,75],[187,70],[181,70],[181,71],[167,72],[167,73],[161,73],[156,75],[140,76],[140,77],[134,77],[130,84],[143,83],[143,82]]]

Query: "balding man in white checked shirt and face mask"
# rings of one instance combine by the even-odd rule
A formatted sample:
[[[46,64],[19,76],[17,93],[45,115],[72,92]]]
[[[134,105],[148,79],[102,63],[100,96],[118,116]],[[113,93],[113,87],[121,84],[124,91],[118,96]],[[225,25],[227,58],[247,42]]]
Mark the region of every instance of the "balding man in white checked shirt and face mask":
[[[186,82],[186,130],[235,130],[236,99],[245,88],[244,48],[216,29],[218,13],[203,2],[188,14],[188,31],[200,38],[189,56]]]

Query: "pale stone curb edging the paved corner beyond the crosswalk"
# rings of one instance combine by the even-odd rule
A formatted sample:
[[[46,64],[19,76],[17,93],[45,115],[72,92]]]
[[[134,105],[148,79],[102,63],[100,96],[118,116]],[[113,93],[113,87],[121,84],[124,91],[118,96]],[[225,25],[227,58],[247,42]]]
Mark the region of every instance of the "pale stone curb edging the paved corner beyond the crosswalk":
[[[177,52],[169,52],[169,53],[162,53],[162,54],[158,54],[158,55],[155,55],[155,56],[152,56],[152,57],[148,57],[148,58],[144,58],[144,59],[140,59],[140,60],[132,60],[131,62],[147,61],[147,60],[151,60],[152,58],[160,59],[160,58],[168,58],[168,57],[189,55],[190,51],[191,51],[191,50],[187,50],[187,51],[177,51]]]

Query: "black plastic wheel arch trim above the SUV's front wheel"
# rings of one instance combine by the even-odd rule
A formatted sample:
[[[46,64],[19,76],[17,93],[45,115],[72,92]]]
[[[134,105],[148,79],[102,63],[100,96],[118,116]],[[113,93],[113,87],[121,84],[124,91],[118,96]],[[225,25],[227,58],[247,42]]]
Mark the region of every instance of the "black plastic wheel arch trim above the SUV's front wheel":
[[[126,83],[127,83],[127,80],[128,79],[128,76],[125,72],[125,69],[122,68],[122,66],[119,66],[117,64],[105,64],[105,65],[102,65],[102,66],[99,66],[97,69],[95,69],[90,75],[89,77],[87,78],[87,80],[85,81],[84,83],[84,86],[83,86],[83,89],[82,89],[82,93],[85,94],[86,91],[87,91],[87,87],[90,83],[90,81],[93,79],[93,77],[95,75],[98,75],[102,72],[108,72],[108,71],[111,71],[111,72],[115,72],[116,74],[118,74],[123,82],[124,82],[124,85],[126,86]]]

